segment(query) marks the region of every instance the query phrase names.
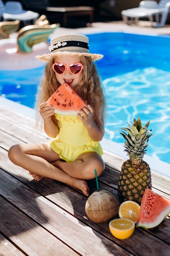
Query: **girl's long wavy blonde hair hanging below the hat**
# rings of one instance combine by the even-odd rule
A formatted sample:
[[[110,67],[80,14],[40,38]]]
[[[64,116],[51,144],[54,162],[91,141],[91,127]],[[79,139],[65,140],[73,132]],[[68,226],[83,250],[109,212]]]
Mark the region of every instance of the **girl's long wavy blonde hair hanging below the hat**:
[[[44,76],[42,77],[41,83],[38,86],[38,92],[36,95],[35,107],[38,112],[41,103],[47,101],[49,97],[59,88],[61,85],[54,74],[52,65],[54,58],[51,58],[45,66]],[[82,99],[87,100],[87,103],[95,106],[96,102],[100,102],[102,115],[105,118],[106,113],[106,101],[104,97],[104,88],[100,76],[97,72],[92,58],[89,56],[80,56],[80,62],[84,66],[82,81],[79,83],[75,91],[79,94]],[[39,118],[38,118],[39,121]],[[55,119],[53,121],[56,124]]]

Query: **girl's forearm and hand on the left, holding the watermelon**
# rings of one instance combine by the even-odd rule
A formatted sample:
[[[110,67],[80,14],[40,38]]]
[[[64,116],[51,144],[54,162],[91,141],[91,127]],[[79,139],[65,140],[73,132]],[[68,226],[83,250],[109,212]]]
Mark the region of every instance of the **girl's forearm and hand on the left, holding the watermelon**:
[[[54,124],[52,120],[53,111],[52,106],[47,106],[47,102],[40,105],[40,115],[44,119],[44,131],[51,138],[55,138],[59,131],[57,125]]]

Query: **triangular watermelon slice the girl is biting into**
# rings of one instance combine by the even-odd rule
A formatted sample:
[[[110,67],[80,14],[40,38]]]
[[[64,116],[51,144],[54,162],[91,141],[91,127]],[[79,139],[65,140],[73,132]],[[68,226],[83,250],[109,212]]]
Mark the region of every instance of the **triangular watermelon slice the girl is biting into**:
[[[53,106],[54,113],[63,116],[75,116],[80,108],[87,107],[86,102],[67,83],[60,85],[47,102]]]

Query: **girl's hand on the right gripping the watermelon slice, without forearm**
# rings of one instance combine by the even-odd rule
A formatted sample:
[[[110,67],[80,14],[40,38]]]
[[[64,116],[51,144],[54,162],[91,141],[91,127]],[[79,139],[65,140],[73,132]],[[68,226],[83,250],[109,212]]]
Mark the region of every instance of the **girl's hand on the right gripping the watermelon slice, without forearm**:
[[[80,120],[82,120],[82,123],[88,127],[88,126],[92,126],[93,124],[93,113],[94,110],[90,105],[87,105],[88,108],[80,108],[79,112],[77,113],[77,116]]]

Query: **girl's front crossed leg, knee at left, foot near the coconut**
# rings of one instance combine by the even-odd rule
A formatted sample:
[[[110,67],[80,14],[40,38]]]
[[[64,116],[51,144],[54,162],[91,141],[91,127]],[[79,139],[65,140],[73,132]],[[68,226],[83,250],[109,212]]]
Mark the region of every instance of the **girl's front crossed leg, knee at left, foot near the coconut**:
[[[9,159],[31,173],[66,183],[82,190],[85,195],[89,195],[89,188],[85,180],[71,177],[51,164],[51,162],[59,160],[60,157],[46,144],[14,145],[9,149]]]

